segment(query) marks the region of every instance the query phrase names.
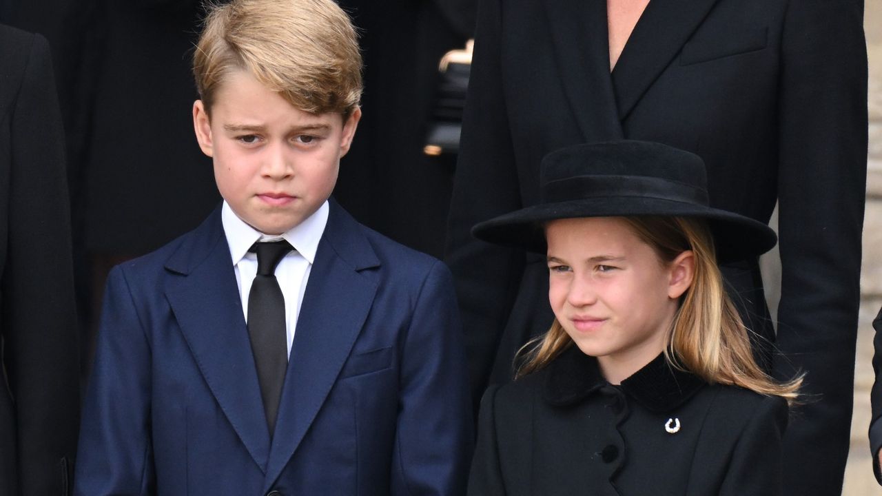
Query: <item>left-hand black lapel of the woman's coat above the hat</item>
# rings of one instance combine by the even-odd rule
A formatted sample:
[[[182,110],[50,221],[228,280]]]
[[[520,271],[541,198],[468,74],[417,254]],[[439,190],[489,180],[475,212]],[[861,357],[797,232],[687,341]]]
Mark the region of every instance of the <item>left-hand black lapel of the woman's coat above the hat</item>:
[[[585,141],[622,139],[609,78],[606,1],[556,0],[545,11],[564,91]]]

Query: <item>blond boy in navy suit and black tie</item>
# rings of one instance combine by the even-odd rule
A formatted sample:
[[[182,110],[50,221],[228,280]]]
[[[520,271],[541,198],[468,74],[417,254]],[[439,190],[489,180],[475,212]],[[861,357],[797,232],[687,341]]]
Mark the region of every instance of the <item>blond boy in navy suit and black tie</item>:
[[[450,274],[329,199],[361,116],[348,17],[332,0],[214,7],[194,73],[224,202],[111,272],[76,493],[463,493]]]

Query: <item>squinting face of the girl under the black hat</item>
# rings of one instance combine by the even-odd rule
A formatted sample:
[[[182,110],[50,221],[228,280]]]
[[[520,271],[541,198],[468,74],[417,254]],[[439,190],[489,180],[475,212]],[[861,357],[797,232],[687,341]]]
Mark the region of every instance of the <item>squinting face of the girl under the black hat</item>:
[[[549,301],[557,321],[618,384],[662,353],[692,252],[665,263],[617,217],[560,219],[545,229]]]

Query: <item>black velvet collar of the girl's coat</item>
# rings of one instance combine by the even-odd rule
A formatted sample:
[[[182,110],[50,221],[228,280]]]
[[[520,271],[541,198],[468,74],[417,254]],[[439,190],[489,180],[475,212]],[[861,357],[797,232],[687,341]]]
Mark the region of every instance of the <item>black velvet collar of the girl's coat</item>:
[[[597,358],[587,356],[575,346],[565,349],[548,369],[544,393],[553,405],[576,404],[609,385],[603,379]],[[663,413],[688,401],[705,384],[698,376],[670,366],[662,354],[623,380],[620,387],[647,410]]]

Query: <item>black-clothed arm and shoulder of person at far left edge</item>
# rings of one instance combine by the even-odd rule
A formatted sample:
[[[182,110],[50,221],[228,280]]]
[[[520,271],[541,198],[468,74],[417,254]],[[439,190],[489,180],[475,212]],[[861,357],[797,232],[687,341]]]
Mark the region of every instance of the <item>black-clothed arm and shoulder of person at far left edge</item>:
[[[0,493],[67,494],[77,318],[64,132],[49,45],[0,26]]]

